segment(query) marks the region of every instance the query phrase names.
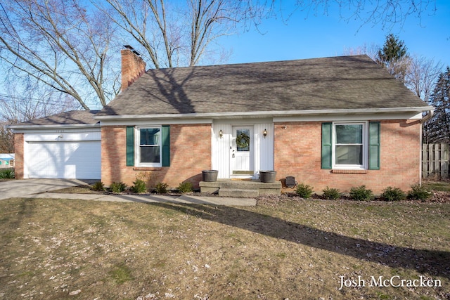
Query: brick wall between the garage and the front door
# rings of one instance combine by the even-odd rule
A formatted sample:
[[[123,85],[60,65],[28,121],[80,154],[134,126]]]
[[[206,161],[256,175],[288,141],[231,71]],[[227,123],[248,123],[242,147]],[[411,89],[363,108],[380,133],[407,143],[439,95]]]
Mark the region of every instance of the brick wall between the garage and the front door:
[[[126,126],[102,126],[101,151],[101,180],[107,186],[119,181],[132,185],[141,178],[150,187],[164,182],[176,188],[190,181],[198,188],[202,170],[211,169],[211,125],[170,126],[170,167],[127,167]]]

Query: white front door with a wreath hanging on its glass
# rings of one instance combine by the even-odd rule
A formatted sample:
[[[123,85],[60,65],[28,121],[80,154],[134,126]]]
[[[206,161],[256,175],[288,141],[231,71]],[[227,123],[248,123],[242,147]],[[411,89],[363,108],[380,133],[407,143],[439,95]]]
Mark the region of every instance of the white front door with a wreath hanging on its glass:
[[[231,136],[231,176],[249,178],[255,174],[253,126],[233,126]]]

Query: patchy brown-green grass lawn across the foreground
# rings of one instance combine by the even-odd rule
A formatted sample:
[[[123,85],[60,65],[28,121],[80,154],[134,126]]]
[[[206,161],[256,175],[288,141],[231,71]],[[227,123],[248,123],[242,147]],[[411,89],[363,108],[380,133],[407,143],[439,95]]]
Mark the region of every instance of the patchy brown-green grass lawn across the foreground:
[[[0,299],[450,299],[450,203],[16,198],[0,253]]]

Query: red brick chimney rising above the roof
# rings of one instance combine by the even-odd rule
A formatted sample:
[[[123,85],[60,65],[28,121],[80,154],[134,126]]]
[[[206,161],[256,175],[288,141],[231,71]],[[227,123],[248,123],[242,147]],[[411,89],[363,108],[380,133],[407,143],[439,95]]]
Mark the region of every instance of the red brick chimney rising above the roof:
[[[125,49],[120,51],[122,55],[122,89],[124,91],[128,86],[146,72],[146,63],[141,55],[129,45],[124,45]]]

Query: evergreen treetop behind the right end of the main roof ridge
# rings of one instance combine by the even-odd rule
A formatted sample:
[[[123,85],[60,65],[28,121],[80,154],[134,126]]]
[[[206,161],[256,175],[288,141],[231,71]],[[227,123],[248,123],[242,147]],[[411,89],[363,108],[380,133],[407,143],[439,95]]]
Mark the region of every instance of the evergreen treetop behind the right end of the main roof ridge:
[[[409,55],[404,41],[399,40],[394,34],[387,35],[385,44],[383,48],[378,49],[375,60],[395,78],[403,83],[405,82],[409,69]]]

